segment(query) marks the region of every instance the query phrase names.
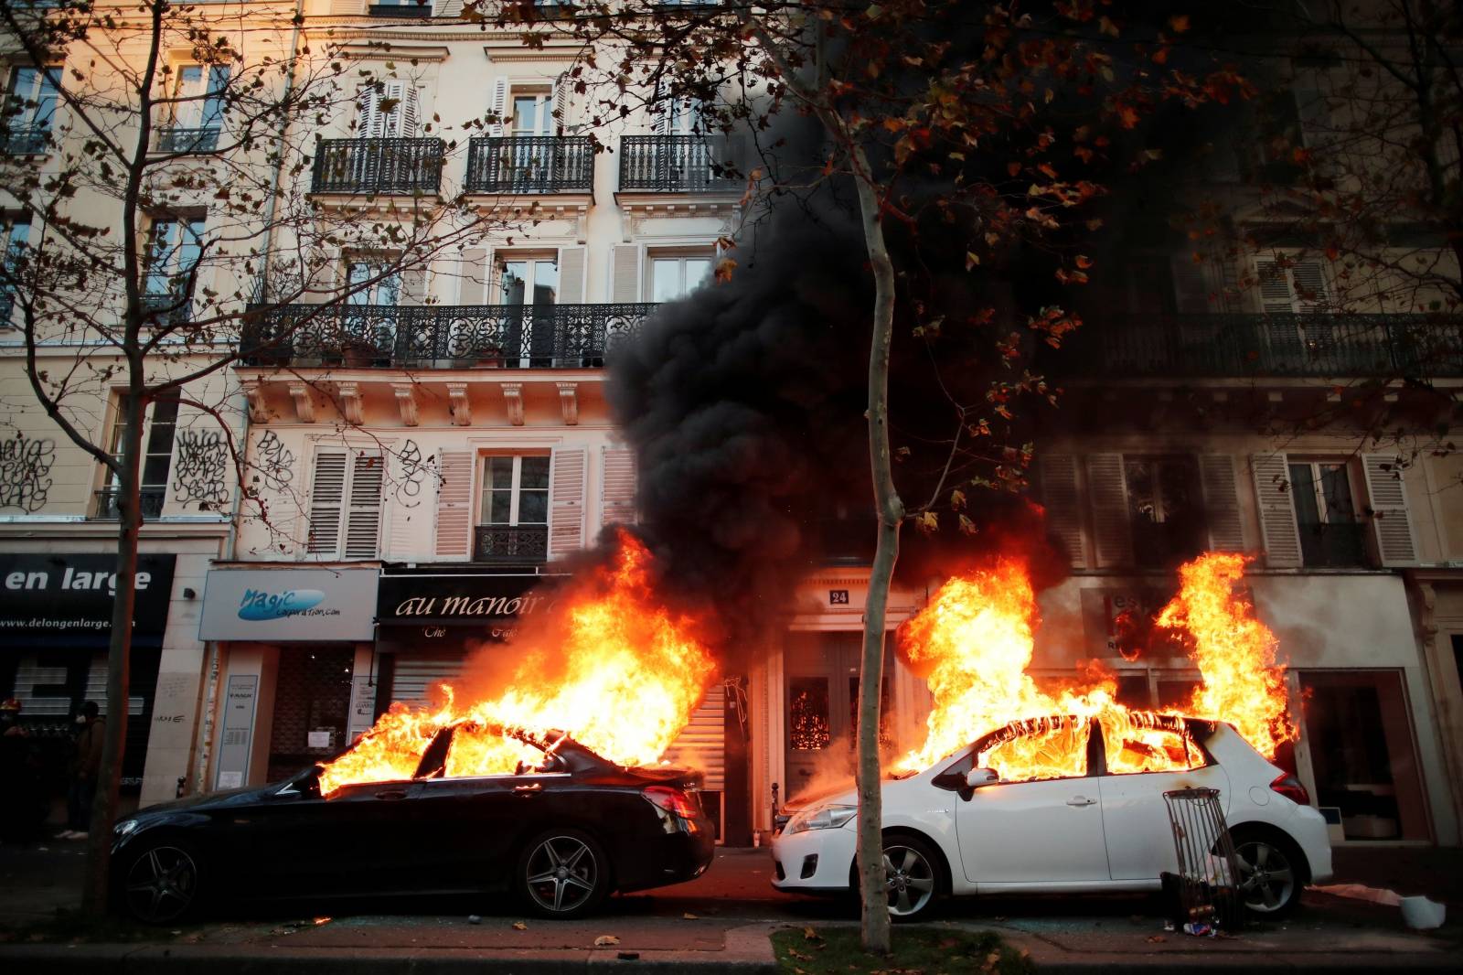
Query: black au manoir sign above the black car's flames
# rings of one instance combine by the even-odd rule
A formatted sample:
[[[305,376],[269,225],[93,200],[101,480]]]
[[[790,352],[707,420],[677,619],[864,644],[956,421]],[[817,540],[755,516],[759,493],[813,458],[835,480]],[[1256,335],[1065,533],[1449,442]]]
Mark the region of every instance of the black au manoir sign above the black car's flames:
[[[562,575],[382,575],[376,616],[382,625],[421,627],[424,638],[448,625],[515,621],[553,605],[552,583]]]

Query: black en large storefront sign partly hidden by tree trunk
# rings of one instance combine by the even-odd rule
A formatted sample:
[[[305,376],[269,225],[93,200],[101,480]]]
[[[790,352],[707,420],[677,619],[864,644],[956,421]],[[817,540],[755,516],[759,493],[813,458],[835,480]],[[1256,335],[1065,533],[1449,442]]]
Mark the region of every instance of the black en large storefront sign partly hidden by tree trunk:
[[[139,555],[132,638],[161,646],[176,555]],[[0,637],[31,646],[104,647],[117,597],[114,555],[0,555]]]

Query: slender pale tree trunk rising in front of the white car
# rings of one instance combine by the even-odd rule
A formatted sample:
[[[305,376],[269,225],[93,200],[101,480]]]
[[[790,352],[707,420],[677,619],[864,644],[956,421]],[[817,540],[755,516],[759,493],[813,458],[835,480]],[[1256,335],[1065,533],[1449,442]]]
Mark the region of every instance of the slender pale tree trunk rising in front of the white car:
[[[856,173],[868,174],[869,162],[854,149]],[[894,264],[884,242],[879,201],[862,176],[859,211],[863,242],[873,268],[873,334],[869,343],[869,470],[879,515],[879,539],[869,572],[869,597],[863,610],[863,665],[859,675],[859,886],[863,950],[890,953],[890,906],[884,870],[884,802],[879,793],[879,704],[884,687],[884,619],[890,606],[890,580],[900,555],[900,523],[904,502],[894,489],[890,451],[890,341],[894,337]]]

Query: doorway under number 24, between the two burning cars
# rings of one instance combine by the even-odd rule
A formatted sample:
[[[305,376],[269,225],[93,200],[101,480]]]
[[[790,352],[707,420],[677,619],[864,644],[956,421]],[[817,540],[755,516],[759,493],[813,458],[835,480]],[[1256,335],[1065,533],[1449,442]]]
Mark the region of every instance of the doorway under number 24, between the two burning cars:
[[[815,795],[843,783],[853,785],[854,729],[859,709],[859,662],[862,632],[793,632],[787,635],[783,668],[786,700],[784,802]],[[885,761],[891,757],[894,728],[890,714],[892,660],[884,653],[879,744]]]

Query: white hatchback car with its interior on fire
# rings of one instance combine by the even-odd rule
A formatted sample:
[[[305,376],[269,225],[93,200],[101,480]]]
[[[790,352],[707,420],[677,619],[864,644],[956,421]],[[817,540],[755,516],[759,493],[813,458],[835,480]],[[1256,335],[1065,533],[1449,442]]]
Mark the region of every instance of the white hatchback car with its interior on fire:
[[[942,894],[1159,890],[1178,865],[1163,793],[1186,788],[1219,791],[1252,915],[1283,916],[1305,884],[1331,875],[1325,821],[1305,789],[1233,728],[1153,713],[1103,720],[1012,722],[887,780],[890,914],[923,919]],[[856,802],[850,791],[799,810],[772,840],[772,886],[847,893]]]

